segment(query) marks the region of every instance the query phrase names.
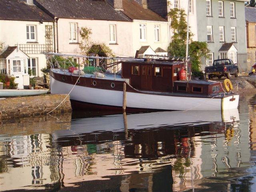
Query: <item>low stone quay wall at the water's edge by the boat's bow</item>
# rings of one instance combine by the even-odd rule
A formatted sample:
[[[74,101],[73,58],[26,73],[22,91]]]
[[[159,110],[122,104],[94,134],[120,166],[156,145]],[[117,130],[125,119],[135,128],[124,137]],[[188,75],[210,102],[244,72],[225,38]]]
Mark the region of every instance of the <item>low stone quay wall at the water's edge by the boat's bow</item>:
[[[54,109],[66,94],[46,94],[0,99],[0,120],[46,114]],[[69,96],[52,114],[71,111]]]

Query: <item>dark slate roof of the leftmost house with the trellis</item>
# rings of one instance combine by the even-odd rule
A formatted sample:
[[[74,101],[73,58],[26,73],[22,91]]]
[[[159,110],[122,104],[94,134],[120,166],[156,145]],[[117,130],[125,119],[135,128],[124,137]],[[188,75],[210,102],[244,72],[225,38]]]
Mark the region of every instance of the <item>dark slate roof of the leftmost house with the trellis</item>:
[[[0,20],[54,21],[38,7],[21,0],[0,0],[0,10]]]

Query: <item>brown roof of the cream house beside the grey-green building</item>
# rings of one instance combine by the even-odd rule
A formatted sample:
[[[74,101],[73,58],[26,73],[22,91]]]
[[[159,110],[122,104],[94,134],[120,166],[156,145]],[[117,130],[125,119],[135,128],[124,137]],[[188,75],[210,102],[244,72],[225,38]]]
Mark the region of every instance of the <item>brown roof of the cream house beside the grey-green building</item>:
[[[160,15],[156,14],[150,9],[144,9],[134,0],[123,0],[122,11],[132,20],[148,20],[148,21],[164,21],[167,22]]]

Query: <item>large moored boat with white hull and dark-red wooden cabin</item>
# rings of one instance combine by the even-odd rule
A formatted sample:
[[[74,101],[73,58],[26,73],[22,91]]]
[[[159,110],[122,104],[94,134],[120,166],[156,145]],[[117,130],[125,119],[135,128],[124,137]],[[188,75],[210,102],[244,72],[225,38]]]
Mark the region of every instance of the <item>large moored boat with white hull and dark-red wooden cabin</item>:
[[[51,93],[67,94],[72,90],[72,108],[90,110],[122,110],[124,105],[128,111],[227,110],[238,107],[239,95],[224,92],[221,82],[178,80],[178,72],[185,65],[183,61],[127,58],[121,60],[121,65],[120,74],[105,73],[102,78],[52,68]],[[188,64],[188,74],[190,69],[191,64]]]

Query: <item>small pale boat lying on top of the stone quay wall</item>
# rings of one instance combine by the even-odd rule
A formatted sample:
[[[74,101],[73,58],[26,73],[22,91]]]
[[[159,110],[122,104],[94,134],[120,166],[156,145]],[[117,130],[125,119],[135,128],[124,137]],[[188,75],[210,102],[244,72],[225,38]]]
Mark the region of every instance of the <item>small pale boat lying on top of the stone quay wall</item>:
[[[0,97],[18,97],[46,94],[48,89],[0,89]]]

